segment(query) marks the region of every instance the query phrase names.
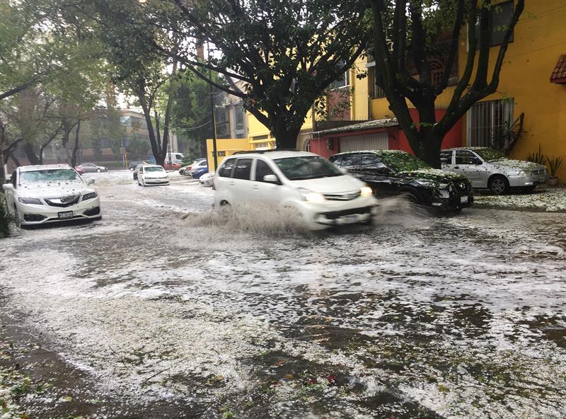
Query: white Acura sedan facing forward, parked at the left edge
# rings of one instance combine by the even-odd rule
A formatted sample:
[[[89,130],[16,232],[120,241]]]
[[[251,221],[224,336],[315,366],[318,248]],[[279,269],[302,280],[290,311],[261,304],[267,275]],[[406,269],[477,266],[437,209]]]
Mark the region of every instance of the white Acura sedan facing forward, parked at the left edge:
[[[100,218],[100,198],[89,187],[93,183],[67,164],[47,164],[16,168],[2,188],[16,224],[30,226]]]

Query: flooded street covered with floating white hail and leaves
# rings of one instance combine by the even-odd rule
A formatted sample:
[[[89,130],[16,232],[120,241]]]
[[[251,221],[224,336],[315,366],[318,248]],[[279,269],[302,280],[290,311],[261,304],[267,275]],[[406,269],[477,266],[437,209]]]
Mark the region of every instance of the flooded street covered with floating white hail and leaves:
[[[91,177],[102,220],[0,242],[4,329],[73,372],[72,409],[47,391],[31,417],[566,416],[565,214],[384,202],[278,234],[186,179]]]

